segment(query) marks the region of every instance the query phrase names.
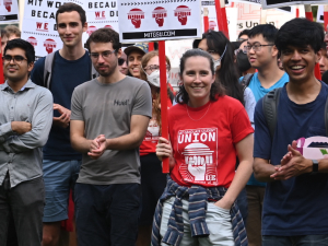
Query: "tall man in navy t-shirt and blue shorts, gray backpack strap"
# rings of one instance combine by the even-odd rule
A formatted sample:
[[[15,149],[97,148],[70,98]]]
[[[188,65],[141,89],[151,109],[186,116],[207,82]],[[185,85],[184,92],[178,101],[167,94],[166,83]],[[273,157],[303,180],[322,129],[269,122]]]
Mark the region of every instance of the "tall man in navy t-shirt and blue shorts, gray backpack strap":
[[[31,75],[35,83],[51,91],[55,102],[54,124],[43,162],[46,186],[44,246],[57,245],[61,221],[68,219],[69,194],[82,159],[70,143],[71,96],[75,86],[92,78],[92,63],[82,45],[82,34],[87,28],[85,11],[78,4],[65,3],[58,8],[56,20],[62,48],[37,60]]]

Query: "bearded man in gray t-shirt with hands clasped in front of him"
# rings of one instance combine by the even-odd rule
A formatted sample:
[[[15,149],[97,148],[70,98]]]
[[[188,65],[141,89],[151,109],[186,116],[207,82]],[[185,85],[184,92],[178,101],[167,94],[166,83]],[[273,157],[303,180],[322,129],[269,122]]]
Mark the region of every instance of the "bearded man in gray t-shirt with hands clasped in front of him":
[[[141,206],[139,145],[152,115],[148,83],[119,72],[118,34],[94,32],[86,42],[99,77],[75,87],[71,143],[83,153],[75,185],[79,246],[133,246]]]

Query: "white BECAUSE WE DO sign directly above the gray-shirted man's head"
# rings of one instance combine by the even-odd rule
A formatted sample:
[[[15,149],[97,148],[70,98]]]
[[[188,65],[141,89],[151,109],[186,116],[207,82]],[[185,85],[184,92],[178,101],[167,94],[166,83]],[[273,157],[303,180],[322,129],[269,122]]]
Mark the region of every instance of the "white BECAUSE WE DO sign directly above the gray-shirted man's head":
[[[84,0],[83,9],[86,12],[87,35],[103,27],[113,28],[118,32],[118,0]]]

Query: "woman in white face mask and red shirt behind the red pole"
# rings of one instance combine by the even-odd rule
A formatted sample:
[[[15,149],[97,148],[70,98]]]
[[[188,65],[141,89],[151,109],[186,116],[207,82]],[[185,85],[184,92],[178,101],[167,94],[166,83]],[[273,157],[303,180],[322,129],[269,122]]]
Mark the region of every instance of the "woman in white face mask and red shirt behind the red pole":
[[[162,173],[161,161],[156,156],[156,144],[162,131],[159,66],[159,51],[151,51],[142,57],[140,77],[151,87],[153,113],[147,134],[140,145],[142,211],[139,220],[137,246],[150,245],[155,207],[166,186],[166,175]],[[166,57],[167,74],[169,69],[171,62]],[[168,86],[167,94],[171,96],[167,99],[167,106],[171,107],[173,93]]]

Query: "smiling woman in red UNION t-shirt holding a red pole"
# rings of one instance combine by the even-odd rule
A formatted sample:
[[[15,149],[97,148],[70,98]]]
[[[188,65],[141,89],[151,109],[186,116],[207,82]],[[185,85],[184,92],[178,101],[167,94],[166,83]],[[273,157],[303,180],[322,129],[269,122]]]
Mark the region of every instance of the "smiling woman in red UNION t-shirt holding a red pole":
[[[178,105],[168,110],[171,141],[160,138],[156,147],[161,160],[169,157],[171,175],[156,208],[152,245],[247,245],[235,203],[253,171],[247,113],[224,95],[206,51],[184,54],[180,81]]]

